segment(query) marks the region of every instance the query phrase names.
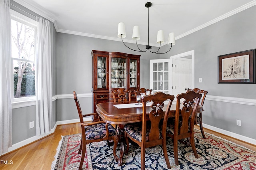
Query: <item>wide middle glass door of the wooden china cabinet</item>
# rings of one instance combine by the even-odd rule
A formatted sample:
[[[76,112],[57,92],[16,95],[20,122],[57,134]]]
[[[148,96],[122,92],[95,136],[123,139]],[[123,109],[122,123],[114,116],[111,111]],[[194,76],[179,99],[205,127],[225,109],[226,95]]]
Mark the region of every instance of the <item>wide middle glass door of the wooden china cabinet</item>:
[[[126,88],[126,59],[111,57],[110,88]]]

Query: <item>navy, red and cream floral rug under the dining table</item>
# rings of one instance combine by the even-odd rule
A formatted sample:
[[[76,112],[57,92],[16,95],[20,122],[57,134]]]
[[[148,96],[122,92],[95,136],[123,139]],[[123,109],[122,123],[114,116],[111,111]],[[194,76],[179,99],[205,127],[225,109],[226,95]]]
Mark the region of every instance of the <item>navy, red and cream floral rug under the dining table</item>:
[[[212,134],[202,138],[201,132],[195,129],[194,139],[199,158],[194,157],[192,148],[178,143],[179,165],[174,163],[173,143],[167,140],[167,150],[172,170],[256,170],[256,152],[236,145],[228,140]],[[57,160],[53,162],[52,170],[78,169],[80,155],[77,154],[80,134],[64,136],[62,149],[57,152]],[[66,141],[67,140],[67,141]],[[66,145],[66,146],[65,146]],[[113,146],[106,141],[87,145],[87,160],[85,170],[138,170],[140,169],[140,147],[130,145],[129,153],[124,155],[123,165],[118,166],[113,156]],[[120,154],[119,147],[117,155]],[[146,148],[146,170],[167,170],[162,146]]]

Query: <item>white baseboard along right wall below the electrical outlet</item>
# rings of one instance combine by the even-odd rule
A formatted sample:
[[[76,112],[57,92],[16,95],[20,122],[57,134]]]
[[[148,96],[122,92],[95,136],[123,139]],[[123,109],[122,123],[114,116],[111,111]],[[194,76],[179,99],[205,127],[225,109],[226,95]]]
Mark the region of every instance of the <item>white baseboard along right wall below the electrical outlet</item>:
[[[216,128],[216,127],[213,127],[213,126],[210,126],[210,125],[206,125],[204,123],[203,123],[203,127],[208,128],[208,129],[213,130],[213,131],[218,132],[218,133],[225,134],[225,135],[230,136],[232,138],[236,138],[236,139],[242,140],[244,142],[248,142],[250,144],[256,145],[256,140],[255,139],[248,138],[246,136],[242,136],[240,134],[236,134],[236,133],[233,133],[233,132],[230,132],[230,131],[227,131],[227,130],[223,130],[221,128]]]

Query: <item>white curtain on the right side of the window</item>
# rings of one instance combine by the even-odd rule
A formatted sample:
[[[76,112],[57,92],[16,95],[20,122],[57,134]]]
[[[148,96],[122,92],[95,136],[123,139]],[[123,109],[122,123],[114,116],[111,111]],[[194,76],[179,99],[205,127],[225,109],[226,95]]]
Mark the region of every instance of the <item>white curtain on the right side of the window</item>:
[[[36,135],[49,133],[52,127],[52,69],[50,22],[36,17]]]

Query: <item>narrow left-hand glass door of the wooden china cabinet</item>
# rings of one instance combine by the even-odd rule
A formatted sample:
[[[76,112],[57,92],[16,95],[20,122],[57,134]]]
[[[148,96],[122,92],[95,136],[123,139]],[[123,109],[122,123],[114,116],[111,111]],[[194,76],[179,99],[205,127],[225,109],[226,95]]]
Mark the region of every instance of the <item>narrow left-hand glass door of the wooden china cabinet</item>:
[[[106,57],[97,56],[97,88],[106,88]]]

